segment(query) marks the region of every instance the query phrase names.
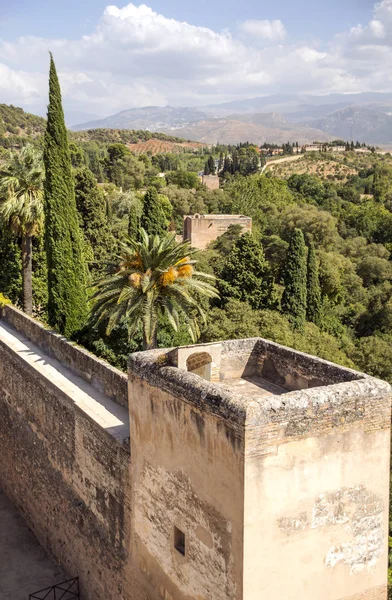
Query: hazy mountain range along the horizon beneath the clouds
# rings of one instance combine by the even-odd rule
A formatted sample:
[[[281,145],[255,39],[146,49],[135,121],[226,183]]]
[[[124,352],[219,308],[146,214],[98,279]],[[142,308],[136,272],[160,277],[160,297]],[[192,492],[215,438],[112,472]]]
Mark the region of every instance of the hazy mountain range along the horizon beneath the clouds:
[[[208,144],[336,138],[392,145],[392,94],[265,96],[202,107],[145,106],[71,127],[146,129]]]

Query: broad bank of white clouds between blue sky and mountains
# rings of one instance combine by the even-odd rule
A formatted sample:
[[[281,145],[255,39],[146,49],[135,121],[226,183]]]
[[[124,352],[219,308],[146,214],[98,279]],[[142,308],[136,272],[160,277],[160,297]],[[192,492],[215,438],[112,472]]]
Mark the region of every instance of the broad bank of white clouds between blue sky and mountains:
[[[80,39],[0,40],[3,102],[43,113],[48,51],[64,105],[106,116],[143,105],[202,105],[275,93],[392,91],[392,0],[323,48],[287,41],[279,21],[245,21],[239,37],[169,19],[142,4],[108,6]]]

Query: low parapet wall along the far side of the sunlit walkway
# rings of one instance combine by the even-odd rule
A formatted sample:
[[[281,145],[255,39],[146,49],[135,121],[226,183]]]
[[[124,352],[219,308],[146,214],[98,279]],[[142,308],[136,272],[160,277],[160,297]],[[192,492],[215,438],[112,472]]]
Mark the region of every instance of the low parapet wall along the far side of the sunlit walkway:
[[[84,348],[73,344],[58,333],[46,329],[14,306],[0,309],[0,318],[22,333],[42,350],[59,360],[121,406],[128,406],[127,376]]]

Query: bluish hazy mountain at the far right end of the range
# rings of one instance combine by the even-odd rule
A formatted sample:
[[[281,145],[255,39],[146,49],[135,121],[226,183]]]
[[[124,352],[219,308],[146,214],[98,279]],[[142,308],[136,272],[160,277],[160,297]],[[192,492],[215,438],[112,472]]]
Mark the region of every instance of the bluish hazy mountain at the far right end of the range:
[[[303,125],[321,129],[341,139],[392,144],[392,117],[362,106],[342,108],[321,119],[307,121]]]

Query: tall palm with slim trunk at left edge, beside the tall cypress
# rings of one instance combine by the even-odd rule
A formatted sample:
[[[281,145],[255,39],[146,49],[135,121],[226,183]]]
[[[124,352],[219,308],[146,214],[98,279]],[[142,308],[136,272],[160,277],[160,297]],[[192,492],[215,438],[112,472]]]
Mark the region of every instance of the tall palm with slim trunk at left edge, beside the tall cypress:
[[[44,167],[31,144],[12,154],[0,171],[0,224],[22,238],[23,310],[33,312],[32,238],[43,224]]]

